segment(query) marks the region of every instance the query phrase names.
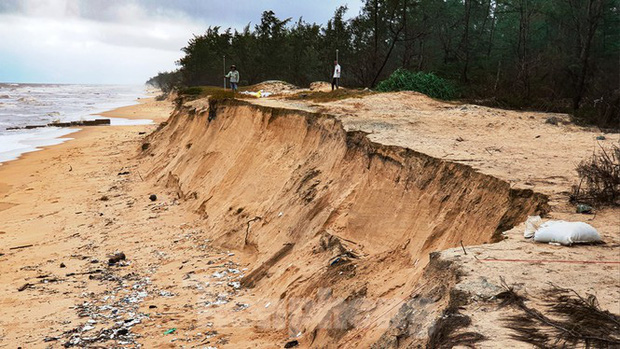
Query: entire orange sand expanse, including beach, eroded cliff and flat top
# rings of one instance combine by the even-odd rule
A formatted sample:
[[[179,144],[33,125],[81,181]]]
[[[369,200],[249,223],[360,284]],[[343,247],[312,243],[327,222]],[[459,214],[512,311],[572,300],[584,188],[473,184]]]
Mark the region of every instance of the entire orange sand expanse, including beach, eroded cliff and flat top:
[[[0,348],[424,346],[454,304],[477,346],[523,346],[492,299],[500,276],[620,312],[617,263],[490,261],[620,260],[620,211],[576,215],[562,194],[594,132],[408,93],[252,103],[277,109],[197,100],[0,167]],[[524,241],[547,196],[607,244]]]

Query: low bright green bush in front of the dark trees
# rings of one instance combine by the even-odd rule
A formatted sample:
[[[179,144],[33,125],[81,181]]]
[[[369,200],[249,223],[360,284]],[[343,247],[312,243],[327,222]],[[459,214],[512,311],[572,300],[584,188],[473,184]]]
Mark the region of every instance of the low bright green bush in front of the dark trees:
[[[377,91],[416,91],[444,100],[454,99],[457,95],[457,88],[452,82],[433,73],[414,73],[405,69],[397,69],[389,78],[381,81]]]

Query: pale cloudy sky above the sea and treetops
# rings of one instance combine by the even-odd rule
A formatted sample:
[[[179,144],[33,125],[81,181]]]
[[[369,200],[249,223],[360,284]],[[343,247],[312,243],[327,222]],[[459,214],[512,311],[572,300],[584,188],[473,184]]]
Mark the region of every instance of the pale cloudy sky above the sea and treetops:
[[[142,84],[176,68],[209,26],[278,18],[325,24],[362,0],[0,0],[0,83]]]

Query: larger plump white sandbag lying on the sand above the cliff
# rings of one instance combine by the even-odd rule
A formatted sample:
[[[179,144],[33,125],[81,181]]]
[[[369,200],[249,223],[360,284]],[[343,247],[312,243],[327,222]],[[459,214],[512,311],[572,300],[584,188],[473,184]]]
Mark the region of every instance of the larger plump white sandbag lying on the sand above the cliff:
[[[534,233],[534,241],[570,246],[578,243],[600,242],[601,236],[588,223],[549,221],[543,223]]]

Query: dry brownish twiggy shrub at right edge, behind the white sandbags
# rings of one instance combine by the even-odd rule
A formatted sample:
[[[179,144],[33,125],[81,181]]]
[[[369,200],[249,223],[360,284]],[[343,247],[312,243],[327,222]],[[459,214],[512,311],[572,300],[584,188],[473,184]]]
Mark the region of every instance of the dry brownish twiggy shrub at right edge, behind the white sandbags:
[[[601,147],[577,166],[577,173],[580,182],[573,186],[572,202],[620,205],[620,146]]]

